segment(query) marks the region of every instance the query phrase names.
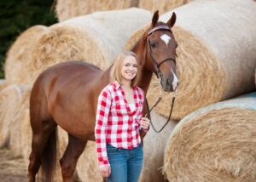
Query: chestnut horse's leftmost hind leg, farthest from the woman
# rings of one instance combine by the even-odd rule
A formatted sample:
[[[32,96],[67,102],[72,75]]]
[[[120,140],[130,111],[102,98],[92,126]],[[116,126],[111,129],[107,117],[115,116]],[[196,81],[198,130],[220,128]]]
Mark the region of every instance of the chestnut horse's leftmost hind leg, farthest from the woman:
[[[33,122],[35,123],[35,122]],[[56,124],[52,120],[38,122],[36,126],[32,124],[32,152],[29,156],[29,166],[28,166],[28,177],[29,182],[34,182],[36,179],[36,174],[42,163],[42,155],[44,152],[45,145],[49,141],[49,136],[55,134]]]

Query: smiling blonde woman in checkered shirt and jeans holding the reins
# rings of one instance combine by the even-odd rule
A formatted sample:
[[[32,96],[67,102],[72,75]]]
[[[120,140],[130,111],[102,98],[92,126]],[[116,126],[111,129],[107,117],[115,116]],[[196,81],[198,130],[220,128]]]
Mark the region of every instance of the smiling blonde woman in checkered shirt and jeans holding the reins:
[[[136,54],[125,51],[114,62],[110,83],[98,98],[96,151],[102,177],[111,182],[136,182],[143,166],[140,132],[149,120],[143,117],[144,93],[136,86],[139,63]]]

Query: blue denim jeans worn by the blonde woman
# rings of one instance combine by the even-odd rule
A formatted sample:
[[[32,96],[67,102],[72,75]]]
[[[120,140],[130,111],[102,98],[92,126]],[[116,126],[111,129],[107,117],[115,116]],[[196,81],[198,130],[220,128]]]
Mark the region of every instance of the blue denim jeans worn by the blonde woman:
[[[137,182],[143,167],[143,145],[131,150],[107,144],[111,174],[108,182]]]

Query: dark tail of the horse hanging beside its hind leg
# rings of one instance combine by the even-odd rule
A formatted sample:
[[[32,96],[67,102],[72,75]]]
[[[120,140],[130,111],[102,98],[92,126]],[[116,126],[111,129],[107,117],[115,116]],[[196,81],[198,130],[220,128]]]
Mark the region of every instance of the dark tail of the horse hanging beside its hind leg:
[[[57,127],[49,135],[49,139],[44,147],[42,154],[42,180],[45,182],[53,181],[53,174],[55,173],[56,167],[56,138],[57,138]]]

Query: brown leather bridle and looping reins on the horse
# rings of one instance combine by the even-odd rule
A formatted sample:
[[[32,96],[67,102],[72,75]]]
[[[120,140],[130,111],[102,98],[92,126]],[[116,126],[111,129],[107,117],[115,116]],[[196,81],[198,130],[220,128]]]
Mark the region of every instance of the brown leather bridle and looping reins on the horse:
[[[167,31],[171,31],[171,28],[169,26],[156,26],[154,27],[153,29],[151,29],[150,31],[148,31],[148,37],[151,33],[153,33],[154,31],[159,31],[159,30],[167,30]],[[171,31],[172,32],[172,31]],[[150,41],[149,41],[149,38],[147,37],[147,43],[148,43],[148,51],[149,51],[149,55],[150,55],[150,60],[152,62],[152,65],[154,66],[154,73],[156,74],[156,76],[159,78],[159,83],[161,82],[161,79],[163,77],[163,74],[162,72],[160,71],[160,65],[163,64],[164,62],[168,61],[168,60],[173,60],[174,63],[176,64],[176,60],[174,58],[166,58],[165,60],[162,60],[159,64],[157,64],[157,62],[155,61],[154,59],[154,55],[153,55],[153,52],[152,52],[152,47],[150,45]],[[151,109],[149,109],[149,106],[148,106],[148,100],[146,98],[146,105],[147,105],[147,109],[148,109],[148,113],[145,115],[145,117],[149,117],[149,120],[150,120],[150,124],[152,126],[152,128],[154,129],[154,132],[156,133],[160,133],[167,125],[167,123],[170,121],[171,117],[172,117],[172,109],[173,109],[173,105],[174,105],[174,101],[175,101],[175,98],[176,98],[176,92],[175,92],[175,95],[174,97],[172,97],[172,104],[171,104],[171,109],[170,109],[170,113],[169,113],[169,117],[166,121],[166,123],[164,124],[164,126],[162,128],[160,128],[160,130],[156,130],[154,128],[154,124],[151,120],[151,115],[150,115],[150,112],[154,109],[154,107],[156,105],[158,105],[160,103],[160,100],[162,99],[162,93],[161,93],[161,90],[160,90],[160,96],[158,97],[158,100],[154,103],[154,105],[151,107]]]

